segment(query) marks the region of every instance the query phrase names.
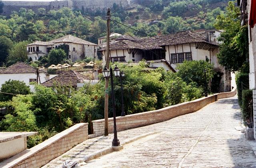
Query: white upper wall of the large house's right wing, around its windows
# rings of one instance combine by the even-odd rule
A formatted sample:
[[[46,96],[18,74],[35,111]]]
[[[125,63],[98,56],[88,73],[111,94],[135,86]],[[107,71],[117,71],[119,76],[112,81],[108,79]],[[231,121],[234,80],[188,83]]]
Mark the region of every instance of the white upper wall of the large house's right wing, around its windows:
[[[190,50],[191,47],[191,50]],[[175,50],[176,48],[176,50]],[[171,58],[171,54],[175,54],[175,53],[186,53],[186,52],[191,52],[192,53],[192,60],[206,60],[206,56],[209,60],[211,60],[211,62],[214,64],[214,67],[219,66],[218,64],[218,60],[217,60],[217,53],[218,53],[218,49],[214,49],[213,51],[208,51],[208,50],[201,50],[201,49],[197,49],[196,48],[196,44],[195,43],[191,43],[191,44],[178,44],[178,45],[169,45],[169,46],[165,46],[166,49],[166,60],[171,63],[170,59]],[[170,56],[169,56],[169,51],[170,51]],[[185,60],[185,58],[184,58]],[[178,60],[177,60],[178,61]],[[172,67],[176,68],[178,63],[176,64],[171,64]]]

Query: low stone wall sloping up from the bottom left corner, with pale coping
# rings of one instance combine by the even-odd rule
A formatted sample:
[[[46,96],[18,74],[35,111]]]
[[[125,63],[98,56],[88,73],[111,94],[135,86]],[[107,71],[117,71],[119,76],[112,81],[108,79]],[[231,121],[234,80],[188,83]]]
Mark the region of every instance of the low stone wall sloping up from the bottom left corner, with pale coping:
[[[88,123],[76,124],[0,163],[1,168],[38,168],[88,139]]]

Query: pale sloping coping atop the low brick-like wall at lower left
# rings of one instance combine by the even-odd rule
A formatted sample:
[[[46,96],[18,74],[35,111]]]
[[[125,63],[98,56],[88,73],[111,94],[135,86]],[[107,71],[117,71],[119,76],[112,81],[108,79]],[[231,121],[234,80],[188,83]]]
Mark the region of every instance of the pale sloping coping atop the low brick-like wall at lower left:
[[[32,155],[40,152],[41,150],[43,150],[44,148],[50,146],[51,144],[54,144],[54,142],[64,138],[65,136],[68,136],[68,134],[70,134],[71,132],[74,132],[75,130],[79,129],[82,126],[88,125],[88,123],[79,123],[76,124],[54,136],[52,136],[51,138],[49,138],[48,140],[45,140],[44,142],[30,148],[27,150],[24,150],[14,156],[12,156],[11,158],[4,160],[3,162],[0,163],[0,167],[13,167],[16,165],[17,162],[22,162],[23,160],[31,157]]]

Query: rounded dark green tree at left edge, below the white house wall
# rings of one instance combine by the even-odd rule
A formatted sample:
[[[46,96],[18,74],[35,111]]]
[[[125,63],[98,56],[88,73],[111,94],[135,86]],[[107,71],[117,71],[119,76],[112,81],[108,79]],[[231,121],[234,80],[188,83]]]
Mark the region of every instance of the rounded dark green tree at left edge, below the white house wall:
[[[26,86],[25,82],[19,80],[8,80],[2,84],[0,93],[0,101],[11,100],[13,94],[30,94],[30,87]],[[5,94],[10,93],[10,94]]]

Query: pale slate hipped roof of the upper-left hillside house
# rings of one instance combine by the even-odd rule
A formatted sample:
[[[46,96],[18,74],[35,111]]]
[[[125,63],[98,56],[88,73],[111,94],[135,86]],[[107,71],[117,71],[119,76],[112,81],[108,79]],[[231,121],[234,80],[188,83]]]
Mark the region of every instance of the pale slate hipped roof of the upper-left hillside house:
[[[78,38],[78,37],[75,37],[75,36],[72,36],[72,35],[66,35],[66,36],[63,36],[61,38],[51,40],[49,42],[36,41],[36,42],[28,44],[27,46],[32,46],[32,45],[48,46],[48,45],[53,45],[54,43],[60,43],[60,42],[71,42],[71,43],[76,43],[76,44],[86,44],[86,45],[98,46],[98,44],[88,42],[86,40],[83,40],[81,38]]]

